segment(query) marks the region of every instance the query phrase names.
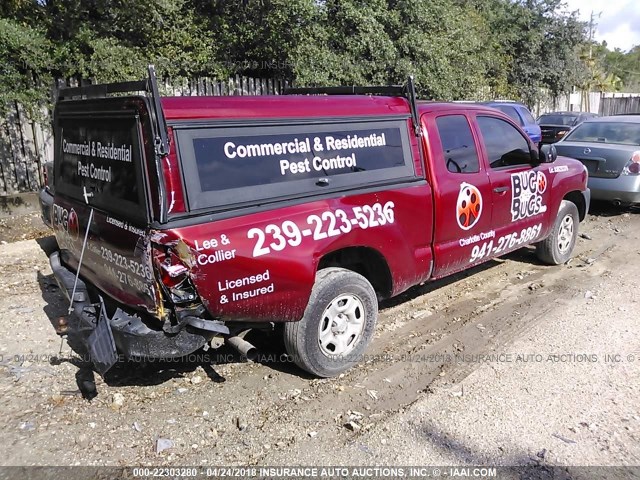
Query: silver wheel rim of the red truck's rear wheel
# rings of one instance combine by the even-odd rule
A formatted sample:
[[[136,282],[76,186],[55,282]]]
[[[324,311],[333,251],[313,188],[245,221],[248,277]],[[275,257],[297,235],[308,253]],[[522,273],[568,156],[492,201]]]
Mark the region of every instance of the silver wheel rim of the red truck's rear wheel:
[[[362,301],[355,295],[338,295],[327,305],[320,318],[320,351],[327,357],[351,352],[362,336],[364,321],[365,310]]]

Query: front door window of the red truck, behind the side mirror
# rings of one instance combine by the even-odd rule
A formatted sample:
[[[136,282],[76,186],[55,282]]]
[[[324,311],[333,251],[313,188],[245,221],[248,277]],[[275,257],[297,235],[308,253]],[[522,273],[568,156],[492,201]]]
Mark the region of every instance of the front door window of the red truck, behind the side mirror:
[[[510,123],[495,117],[477,117],[491,168],[531,164],[529,142]]]

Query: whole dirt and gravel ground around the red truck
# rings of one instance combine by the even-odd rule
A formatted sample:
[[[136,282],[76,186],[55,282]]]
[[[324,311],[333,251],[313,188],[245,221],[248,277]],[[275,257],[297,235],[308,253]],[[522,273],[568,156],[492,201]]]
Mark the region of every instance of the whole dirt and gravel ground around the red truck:
[[[567,265],[526,248],[387,302],[366,361],[324,380],[275,332],[255,363],[94,376],[52,327],[54,240],[0,245],[0,464],[638,465],[640,213],[580,231]]]

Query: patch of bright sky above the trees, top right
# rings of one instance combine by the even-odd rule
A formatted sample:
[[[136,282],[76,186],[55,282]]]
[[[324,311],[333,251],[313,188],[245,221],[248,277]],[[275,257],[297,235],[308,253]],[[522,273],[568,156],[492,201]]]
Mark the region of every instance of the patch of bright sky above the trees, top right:
[[[606,40],[610,50],[619,48],[629,51],[640,45],[640,1],[639,0],[565,0],[568,11],[579,11],[580,20],[589,21],[595,14],[594,38]],[[599,16],[598,16],[599,15]]]

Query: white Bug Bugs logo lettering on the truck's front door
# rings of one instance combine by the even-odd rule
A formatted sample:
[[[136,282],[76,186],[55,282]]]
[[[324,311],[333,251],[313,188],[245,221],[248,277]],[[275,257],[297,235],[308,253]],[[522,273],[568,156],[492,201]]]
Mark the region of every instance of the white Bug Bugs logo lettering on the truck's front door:
[[[546,191],[547,177],[542,172],[530,170],[511,175],[511,221],[546,212],[542,197]]]

